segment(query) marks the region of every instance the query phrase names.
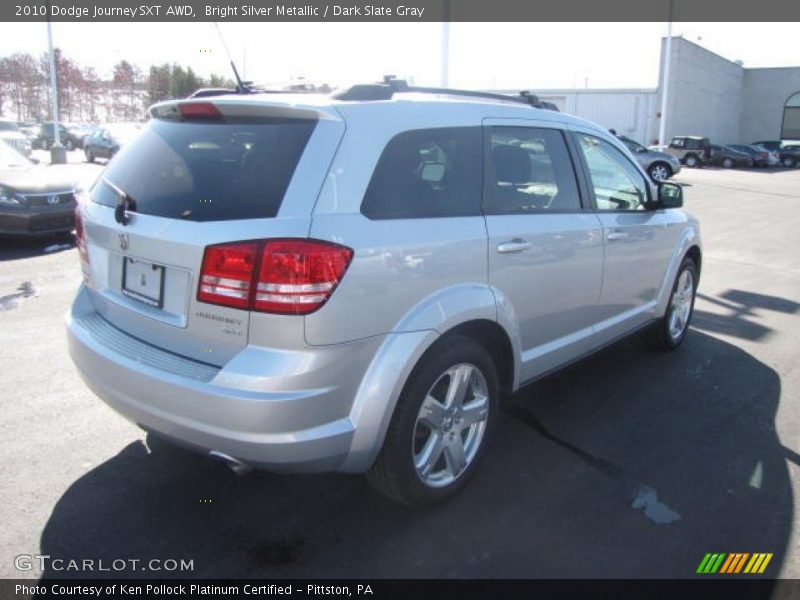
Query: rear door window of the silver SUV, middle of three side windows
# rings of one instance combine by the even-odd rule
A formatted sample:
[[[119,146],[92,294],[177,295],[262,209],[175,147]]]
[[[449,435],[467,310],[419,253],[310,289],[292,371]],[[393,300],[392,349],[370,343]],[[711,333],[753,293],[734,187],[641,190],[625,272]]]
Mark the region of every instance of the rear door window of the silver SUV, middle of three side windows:
[[[555,129],[492,127],[484,189],[487,214],[581,209],[564,137]]]

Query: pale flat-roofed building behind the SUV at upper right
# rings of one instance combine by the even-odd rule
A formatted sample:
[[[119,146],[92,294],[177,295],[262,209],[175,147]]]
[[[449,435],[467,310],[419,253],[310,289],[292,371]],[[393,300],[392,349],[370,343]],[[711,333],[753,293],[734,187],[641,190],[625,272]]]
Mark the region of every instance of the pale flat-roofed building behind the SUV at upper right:
[[[667,85],[667,140],[673,135],[702,135],[723,144],[800,140],[800,67],[748,69],[674,37]],[[658,139],[659,88],[530,91],[562,112],[616,129],[644,144]]]

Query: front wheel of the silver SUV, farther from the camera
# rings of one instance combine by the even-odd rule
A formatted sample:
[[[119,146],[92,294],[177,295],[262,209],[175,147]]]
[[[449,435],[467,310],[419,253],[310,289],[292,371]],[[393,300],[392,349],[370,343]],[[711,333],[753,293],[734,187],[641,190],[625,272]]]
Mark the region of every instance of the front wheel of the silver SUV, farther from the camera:
[[[697,281],[697,265],[691,258],[684,258],[675,276],[664,317],[645,334],[648,346],[654,350],[674,350],[680,346],[692,320]]]

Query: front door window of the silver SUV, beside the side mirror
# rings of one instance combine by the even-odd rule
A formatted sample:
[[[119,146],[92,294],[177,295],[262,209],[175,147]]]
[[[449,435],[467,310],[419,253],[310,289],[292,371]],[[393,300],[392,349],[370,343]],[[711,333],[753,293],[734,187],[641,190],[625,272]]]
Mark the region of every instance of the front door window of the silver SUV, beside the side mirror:
[[[608,142],[579,134],[578,145],[589,168],[598,210],[644,210],[647,182]]]

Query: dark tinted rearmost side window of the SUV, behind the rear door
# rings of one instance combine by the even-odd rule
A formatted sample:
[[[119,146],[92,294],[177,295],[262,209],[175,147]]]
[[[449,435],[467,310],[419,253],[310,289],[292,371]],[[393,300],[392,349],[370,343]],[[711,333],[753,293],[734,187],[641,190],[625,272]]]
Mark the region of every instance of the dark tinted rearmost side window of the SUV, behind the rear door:
[[[361,212],[370,219],[480,214],[482,140],[480,127],[396,135],[378,160]]]

